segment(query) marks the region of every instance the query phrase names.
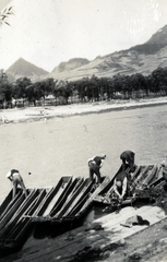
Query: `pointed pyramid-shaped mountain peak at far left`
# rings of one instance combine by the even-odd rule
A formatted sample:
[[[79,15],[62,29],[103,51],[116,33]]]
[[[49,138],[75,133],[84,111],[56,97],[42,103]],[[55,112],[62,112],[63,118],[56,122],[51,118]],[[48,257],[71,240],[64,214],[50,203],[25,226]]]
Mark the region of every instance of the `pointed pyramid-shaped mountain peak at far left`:
[[[35,64],[27,62],[23,58],[20,58],[16,62],[14,62],[7,71],[8,78],[10,81],[13,81],[15,79],[20,79],[23,76],[26,76],[31,79],[32,81],[37,81],[41,76],[46,76],[48,74],[47,71],[45,71],[41,68],[36,67]]]

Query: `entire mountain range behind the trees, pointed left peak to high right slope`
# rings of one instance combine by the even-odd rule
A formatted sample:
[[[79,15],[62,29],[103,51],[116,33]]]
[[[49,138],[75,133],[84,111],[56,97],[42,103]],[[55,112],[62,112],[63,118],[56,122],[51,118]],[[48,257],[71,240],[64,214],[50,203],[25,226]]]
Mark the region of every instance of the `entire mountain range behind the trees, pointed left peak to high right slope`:
[[[127,50],[98,56],[88,61],[86,58],[73,58],[61,62],[48,73],[34,64],[19,59],[7,70],[13,79],[27,76],[32,81],[46,78],[57,80],[79,80],[95,74],[98,78],[111,78],[118,73],[143,75],[151,74],[158,67],[167,67],[167,25],[158,29],[146,43]]]

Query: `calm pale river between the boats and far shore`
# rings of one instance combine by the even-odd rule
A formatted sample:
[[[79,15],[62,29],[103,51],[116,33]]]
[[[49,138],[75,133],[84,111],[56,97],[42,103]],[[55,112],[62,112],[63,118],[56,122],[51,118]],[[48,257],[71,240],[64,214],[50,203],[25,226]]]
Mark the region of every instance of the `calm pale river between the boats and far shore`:
[[[124,150],[136,164],[159,163],[167,153],[167,105],[0,127],[0,202],[16,168],[27,188],[55,186],[62,175],[88,176],[87,159],[105,153],[103,175],[112,177]],[[32,175],[28,175],[32,172]]]

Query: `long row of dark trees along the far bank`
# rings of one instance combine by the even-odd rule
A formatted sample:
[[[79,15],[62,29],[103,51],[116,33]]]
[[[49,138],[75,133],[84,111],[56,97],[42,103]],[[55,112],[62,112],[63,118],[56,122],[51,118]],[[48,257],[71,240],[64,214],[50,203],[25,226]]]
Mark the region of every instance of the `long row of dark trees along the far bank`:
[[[14,83],[0,76],[0,108],[22,106],[68,105],[72,103],[129,99],[167,95],[167,68],[157,68],[150,75],[117,74],[112,78],[83,78],[58,81],[52,78],[33,83],[27,78]]]

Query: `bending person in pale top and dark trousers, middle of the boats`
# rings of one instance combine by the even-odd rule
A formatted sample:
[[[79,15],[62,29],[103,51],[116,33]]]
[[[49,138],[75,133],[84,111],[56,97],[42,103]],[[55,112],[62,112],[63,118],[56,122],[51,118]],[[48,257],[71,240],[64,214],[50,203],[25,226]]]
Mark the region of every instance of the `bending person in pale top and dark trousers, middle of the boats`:
[[[100,168],[106,159],[106,155],[94,156],[88,159],[90,179],[93,180],[94,174],[97,176],[98,183],[102,183]]]

